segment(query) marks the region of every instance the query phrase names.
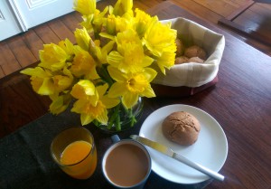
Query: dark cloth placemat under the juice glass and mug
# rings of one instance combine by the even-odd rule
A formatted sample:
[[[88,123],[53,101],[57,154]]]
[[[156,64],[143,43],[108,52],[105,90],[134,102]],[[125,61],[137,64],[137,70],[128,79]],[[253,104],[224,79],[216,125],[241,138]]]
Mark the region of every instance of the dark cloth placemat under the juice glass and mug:
[[[140,126],[148,115],[143,112],[142,118],[134,128],[119,133],[120,138],[138,134]],[[51,140],[61,130],[79,126],[79,115],[69,110],[59,116],[50,113],[20,128],[13,134],[0,140],[0,188],[1,189],[74,189],[74,188],[113,188],[107,184],[101,172],[101,159],[107,147],[112,144],[111,134],[89,125],[98,149],[98,166],[89,179],[76,180],[65,175],[50,155]],[[145,189],[178,189],[204,188],[211,179],[201,184],[174,184],[156,175],[148,178]]]

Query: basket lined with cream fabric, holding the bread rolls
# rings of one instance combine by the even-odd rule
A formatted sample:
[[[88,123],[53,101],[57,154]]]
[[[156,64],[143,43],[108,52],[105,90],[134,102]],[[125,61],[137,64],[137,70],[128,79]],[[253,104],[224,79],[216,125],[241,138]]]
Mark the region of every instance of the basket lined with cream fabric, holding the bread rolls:
[[[176,64],[166,71],[166,75],[158,71],[152,82],[156,96],[189,96],[214,85],[218,81],[217,74],[225,47],[224,36],[182,17],[162,22],[172,22],[178,38],[186,45],[200,46],[208,58],[203,63]]]

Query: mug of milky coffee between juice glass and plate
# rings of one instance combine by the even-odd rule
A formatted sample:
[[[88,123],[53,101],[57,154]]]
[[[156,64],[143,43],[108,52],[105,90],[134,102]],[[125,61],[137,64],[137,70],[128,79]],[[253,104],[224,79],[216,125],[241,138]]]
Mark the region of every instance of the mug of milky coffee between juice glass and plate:
[[[111,137],[110,146],[102,160],[107,181],[117,188],[142,189],[152,170],[151,156],[145,146],[132,139]]]

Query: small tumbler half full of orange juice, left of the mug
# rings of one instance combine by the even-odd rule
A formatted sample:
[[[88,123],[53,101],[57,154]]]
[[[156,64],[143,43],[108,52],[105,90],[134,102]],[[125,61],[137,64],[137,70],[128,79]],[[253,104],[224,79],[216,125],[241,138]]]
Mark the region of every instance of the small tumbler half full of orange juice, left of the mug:
[[[87,128],[68,128],[52,140],[51,156],[66,174],[87,179],[97,165],[94,137]]]

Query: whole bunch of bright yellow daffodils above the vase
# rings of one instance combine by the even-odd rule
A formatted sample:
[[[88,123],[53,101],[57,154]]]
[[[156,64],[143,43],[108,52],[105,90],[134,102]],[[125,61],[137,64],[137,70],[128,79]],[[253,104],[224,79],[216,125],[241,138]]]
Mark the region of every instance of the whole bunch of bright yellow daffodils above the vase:
[[[51,113],[72,103],[82,125],[108,124],[108,109],[128,111],[138,98],[155,97],[150,83],[157,71],[165,74],[173,66],[176,31],[157,16],[134,11],[132,0],[102,12],[96,0],[76,0],[74,9],[82,14],[77,43],[44,44],[38,66],[21,72],[31,76],[35,92],[50,97]],[[111,125],[117,120],[109,119]]]

